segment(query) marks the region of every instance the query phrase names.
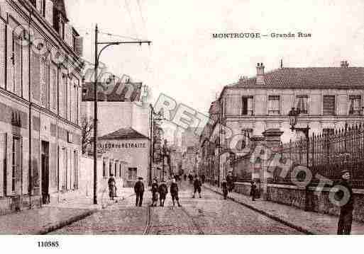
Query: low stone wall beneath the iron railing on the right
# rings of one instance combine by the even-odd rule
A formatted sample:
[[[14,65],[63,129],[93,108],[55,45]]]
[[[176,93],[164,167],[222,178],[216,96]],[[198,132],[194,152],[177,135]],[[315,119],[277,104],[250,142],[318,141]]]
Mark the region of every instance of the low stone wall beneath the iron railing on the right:
[[[295,185],[268,184],[267,199],[311,212],[338,216],[340,207],[330,202],[329,192],[328,187],[309,187],[305,190]],[[353,219],[364,222],[364,190],[353,189],[353,198]]]

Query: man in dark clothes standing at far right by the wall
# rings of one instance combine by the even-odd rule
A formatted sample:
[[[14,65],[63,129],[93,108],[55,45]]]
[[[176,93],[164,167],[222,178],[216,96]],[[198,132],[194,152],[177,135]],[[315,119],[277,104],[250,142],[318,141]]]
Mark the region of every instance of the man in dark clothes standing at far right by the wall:
[[[340,216],[338,217],[338,235],[350,235],[351,224],[353,222],[353,189],[351,187],[350,180],[351,175],[348,170],[341,171],[341,181],[338,185],[341,186],[341,190],[336,192],[338,200],[341,200],[343,204],[340,207]],[[347,191],[345,191],[347,190]],[[347,194],[347,196],[345,195]]]

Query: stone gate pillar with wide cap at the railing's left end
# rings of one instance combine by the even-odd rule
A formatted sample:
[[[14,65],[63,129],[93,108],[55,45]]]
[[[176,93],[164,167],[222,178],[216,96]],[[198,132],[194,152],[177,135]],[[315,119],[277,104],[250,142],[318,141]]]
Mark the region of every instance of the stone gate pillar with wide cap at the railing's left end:
[[[269,154],[273,154],[280,149],[280,137],[282,134],[283,132],[279,128],[267,129],[263,132],[265,149],[270,149]],[[261,192],[263,200],[268,200],[268,183],[273,181],[273,173],[268,171],[269,162],[270,159],[265,158],[261,163]]]

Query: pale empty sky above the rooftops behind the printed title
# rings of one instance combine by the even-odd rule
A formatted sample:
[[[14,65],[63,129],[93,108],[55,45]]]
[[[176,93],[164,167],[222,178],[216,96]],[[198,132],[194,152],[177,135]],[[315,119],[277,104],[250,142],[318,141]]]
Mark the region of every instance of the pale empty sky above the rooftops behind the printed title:
[[[93,62],[94,25],[100,40],[153,41],[118,45],[101,62],[199,112],[240,76],[280,67],[364,67],[364,1],[171,1],[66,0],[72,25],[84,36],[84,57]],[[213,39],[213,33],[311,33],[310,38]]]

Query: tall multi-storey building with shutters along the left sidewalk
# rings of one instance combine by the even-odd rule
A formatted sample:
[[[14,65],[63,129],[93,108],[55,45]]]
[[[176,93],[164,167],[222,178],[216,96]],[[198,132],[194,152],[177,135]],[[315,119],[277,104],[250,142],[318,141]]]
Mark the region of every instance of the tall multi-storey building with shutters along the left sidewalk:
[[[77,190],[81,56],[64,1],[0,2],[0,213]]]

